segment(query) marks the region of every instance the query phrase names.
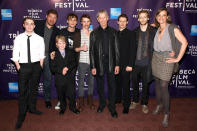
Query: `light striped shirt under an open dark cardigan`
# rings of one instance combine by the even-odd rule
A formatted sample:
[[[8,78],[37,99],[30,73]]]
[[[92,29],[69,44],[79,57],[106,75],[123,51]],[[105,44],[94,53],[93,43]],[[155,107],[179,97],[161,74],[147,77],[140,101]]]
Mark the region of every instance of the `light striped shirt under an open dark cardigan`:
[[[89,58],[90,36],[87,36],[87,34],[85,34],[85,32],[81,30],[81,46],[83,46],[84,44],[88,46],[88,51],[86,52],[80,51],[79,62],[90,64],[90,58]]]

